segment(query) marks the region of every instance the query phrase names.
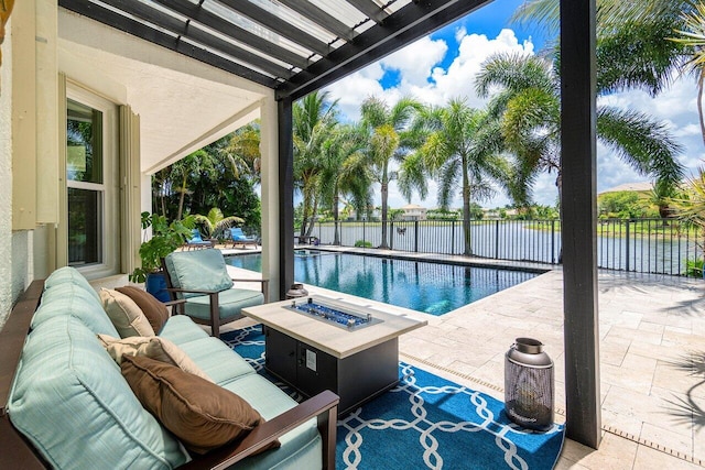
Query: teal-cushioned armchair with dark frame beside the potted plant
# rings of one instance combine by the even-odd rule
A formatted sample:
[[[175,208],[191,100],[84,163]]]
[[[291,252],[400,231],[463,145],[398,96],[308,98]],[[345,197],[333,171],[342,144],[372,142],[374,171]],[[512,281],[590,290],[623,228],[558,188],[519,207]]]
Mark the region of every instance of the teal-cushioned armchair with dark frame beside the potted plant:
[[[219,250],[175,251],[163,260],[163,266],[170,295],[174,300],[184,299],[178,313],[210,325],[215,337],[221,325],[242,318],[242,308],[267,302],[268,281],[231,278]],[[236,288],[234,281],[257,282],[261,289]]]

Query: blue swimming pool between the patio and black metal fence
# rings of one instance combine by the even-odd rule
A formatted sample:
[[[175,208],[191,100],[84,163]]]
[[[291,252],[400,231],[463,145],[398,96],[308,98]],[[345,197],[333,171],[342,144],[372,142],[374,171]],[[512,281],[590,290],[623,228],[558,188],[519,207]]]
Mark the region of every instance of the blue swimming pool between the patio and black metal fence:
[[[261,254],[226,258],[232,266],[262,271]],[[296,250],[294,278],[332,291],[443,315],[520,284],[536,273],[424,261]]]

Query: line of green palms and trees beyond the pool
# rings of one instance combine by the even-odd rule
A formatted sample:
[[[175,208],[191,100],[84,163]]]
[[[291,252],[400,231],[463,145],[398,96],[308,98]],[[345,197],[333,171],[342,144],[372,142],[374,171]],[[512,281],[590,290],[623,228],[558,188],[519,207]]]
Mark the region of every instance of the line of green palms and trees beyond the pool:
[[[640,89],[655,97],[681,75],[694,75],[705,142],[701,106],[705,63],[703,3],[599,0],[597,17],[598,94]],[[550,37],[557,37],[558,2],[529,0],[514,19],[533,22]],[[413,97],[390,105],[383,98],[369,97],[360,105],[359,121],[344,122],[337,101],[329,100],[326,92],[314,92],[296,101],[293,150],[294,182],[302,197],[301,234],[311,234],[315,216],[324,210],[329,211],[334,221],[340,218],[340,207],[358,218],[370,216],[375,193],[379,190],[381,248],[387,247],[392,182],[411,199],[413,194],[427,197],[429,182],[435,181],[438,208],[449,210],[452,201],[460,195],[466,221],[471,218],[474,205],[496,192],[506,194],[517,207],[529,207],[533,183],[542,173],[555,176],[560,200],[557,44],[557,39],[550,41],[538,55],[503,53],[489,57],[475,81],[468,84],[469,90],[487,98],[482,109],[470,107],[463,97],[449,99],[444,106],[425,106]],[[666,123],[647,113],[604,106],[599,100],[598,103],[599,141],[638,174],[653,181],[654,201],[665,214],[674,205],[684,177],[677,160],[683,147]],[[259,128],[253,124],[209,146],[213,149],[206,153],[215,155],[213,162],[196,153],[183,163],[186,170],[172,167],[166,175],[156,175],[155,207],[166,211],[160,203],[177,194],[178,216],[184,210],[184,198],[188,198],[192,212],[205,212],[212,206],[240,217],[256,210],[259,217],[259,206],[236,206],[243,198],[242,193],[234,193],[239,185],[253,193],[258,182],[258,145]],[[232,174],[231,181],[213,179],[226,174]],[[204,184],[195,176],[207,182]],[[698,179],[702,178],[692,183]],[[465,238],[466,254],[470,254],[467,226]],[[334,242],[339,242],[337,231]]]

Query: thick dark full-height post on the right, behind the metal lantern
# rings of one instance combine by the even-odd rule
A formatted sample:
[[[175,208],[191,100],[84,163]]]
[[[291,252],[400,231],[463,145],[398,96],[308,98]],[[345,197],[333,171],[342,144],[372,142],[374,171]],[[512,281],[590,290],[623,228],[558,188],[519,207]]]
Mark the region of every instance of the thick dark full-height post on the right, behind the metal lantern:
[[[595,0],[561,0],[566,435],[600,442]]]

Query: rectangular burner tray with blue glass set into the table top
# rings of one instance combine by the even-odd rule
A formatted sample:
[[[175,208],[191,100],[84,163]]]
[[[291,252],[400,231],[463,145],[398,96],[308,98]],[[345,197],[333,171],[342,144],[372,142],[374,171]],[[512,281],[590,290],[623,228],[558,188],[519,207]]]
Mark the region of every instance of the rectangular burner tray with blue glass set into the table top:
[[[317,296],[291,300],[291,305],[284,308],[348,330],[356,330],[384,321],[373,317],[369,311],[358,310],[349,304],[340,304]]]

